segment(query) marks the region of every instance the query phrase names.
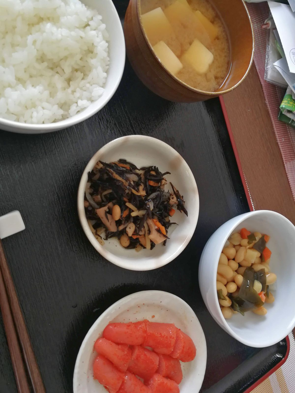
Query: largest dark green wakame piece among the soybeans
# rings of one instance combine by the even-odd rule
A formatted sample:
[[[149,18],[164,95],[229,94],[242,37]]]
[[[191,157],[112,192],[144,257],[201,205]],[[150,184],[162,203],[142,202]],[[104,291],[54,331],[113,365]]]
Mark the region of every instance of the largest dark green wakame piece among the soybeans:
[[[253,310],[255,307],[261,307],[264,304],[253,287],[255,281],[255,273],[256,272],[253,268],[245,269],[242,285],[239,291],[239,296],[236,296],[236,298],[234,298],[243,312]]]

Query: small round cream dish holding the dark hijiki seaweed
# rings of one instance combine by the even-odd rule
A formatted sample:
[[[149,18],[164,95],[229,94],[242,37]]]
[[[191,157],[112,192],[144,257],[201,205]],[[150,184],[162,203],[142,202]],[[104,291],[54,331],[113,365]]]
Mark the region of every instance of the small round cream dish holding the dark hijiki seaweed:
[[[153,250],[143,249],[140,252],[126,250],[116,238],[101,244],[92,234],[84,209],[84,193],[88,180],[87,174],[92,171],[98,160],[104,162],[116,161],[120,158],[134,163],[138,168],[156,165],[162,172],[171,172],[166,176],[168,185],[165,189],[171,191],[170,183],[184,197],[188,217],[176,210],[173,215],[173,225],[169,229],[166,246],[158,244]],[[181,155],[166,143],[143,135],[130,135],[115,139],[94,154],[87,164],[79,184],[77,206],[79,219],[85,235],[94,248],[108,261],[129,270],[152,270],[166,265],[179,255],[190,241],[199,216],[199,193],[194,175]]]

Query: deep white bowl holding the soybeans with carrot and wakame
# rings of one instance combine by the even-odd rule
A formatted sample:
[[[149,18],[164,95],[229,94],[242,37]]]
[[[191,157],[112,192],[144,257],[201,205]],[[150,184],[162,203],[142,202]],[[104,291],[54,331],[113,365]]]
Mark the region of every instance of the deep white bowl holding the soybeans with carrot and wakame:
[[[270,236],[271,272],[277,274],[273,304],[266,304],[267,314],[246,312],[225,320],[219,307],[216,274],[220,253],[231,233],[247,228]],[[295,326],[295,227],[286,217],[269,210],[242,214],[225,222],[205,245],[199,264],[199,285],[203,300],[214,320],[236,340],[250,347],[268,347]]]

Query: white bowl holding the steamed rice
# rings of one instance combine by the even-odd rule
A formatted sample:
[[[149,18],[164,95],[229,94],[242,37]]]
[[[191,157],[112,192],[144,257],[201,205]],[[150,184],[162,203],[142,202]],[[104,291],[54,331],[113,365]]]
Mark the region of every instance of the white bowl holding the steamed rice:
[[[116,92],[122,79],[125,66],[125,39],[119,15],[112,0],[81,0],[86,6],[96,9],[102,16],[109,33],[109,58],[110,64],[107,70],[105,91],[97,101],[93,101],[75,116],[50,124],[27,124],[0,118],[0,129],[18,132],[20,134],[43,134],[70,127],[81,123],[103,108]]]

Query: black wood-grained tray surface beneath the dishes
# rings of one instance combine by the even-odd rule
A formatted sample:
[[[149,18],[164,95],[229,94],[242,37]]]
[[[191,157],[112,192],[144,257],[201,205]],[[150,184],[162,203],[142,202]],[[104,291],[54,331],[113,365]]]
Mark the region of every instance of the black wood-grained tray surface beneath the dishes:
[[[123,20],[127,0],[115,4]],[[76,207],[90,157],[114,138],[132,134],[159,138],[176,149],[192,169],[200,195],[190,244],[170,264],[149,272],[103,259],[85,237]],[[143,86],[127,61],[112,100],[84,123],[46,135],[0,132],[0,215],[15,209],[26,230],[3,244],[48,393],[72,391],[76,356],[92,323],[112,303],[140,290],[171,292],[194,309],[208,349],[202,392],[243,392],[286,355],[286,340],[266,349],[234,340],[214,322],[199,291],[206,241],[223,222],[249,211],[218,99],[165,101]],[[2,319],[0,347],[0,392],[15,393]]]

